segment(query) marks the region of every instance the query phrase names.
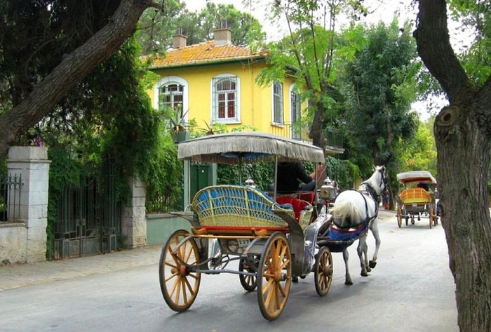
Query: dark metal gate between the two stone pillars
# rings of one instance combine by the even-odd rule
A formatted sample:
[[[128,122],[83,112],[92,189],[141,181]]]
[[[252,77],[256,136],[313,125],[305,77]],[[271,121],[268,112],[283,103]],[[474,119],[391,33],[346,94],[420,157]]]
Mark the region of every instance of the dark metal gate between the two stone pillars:
[[[102,187],[83,178],[79,187],[63,188],[55,223],[55,259],[109,253],[121,237],[121,201],[116,201],[114,175]]]

